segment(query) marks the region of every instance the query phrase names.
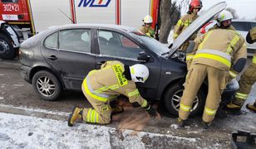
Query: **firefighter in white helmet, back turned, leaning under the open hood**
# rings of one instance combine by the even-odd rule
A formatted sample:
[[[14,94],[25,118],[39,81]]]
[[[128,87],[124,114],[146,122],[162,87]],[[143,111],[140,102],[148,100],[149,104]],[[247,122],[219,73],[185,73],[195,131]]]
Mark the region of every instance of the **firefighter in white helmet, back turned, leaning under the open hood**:
[[[194,42],[193,56],[188,63],[189,71],[185,80],[185,90],[180,99],[178,123],[185,126],[189,117],[195,96],[203,83],[208,79],[208,94],[204,106],[203,127],[208,128],[214,120],[221,94],[225,89],[229,75],[236,77],[244,69],[247,51],[244,38],[237,31],[228,28],[232,14],[221,12],[218,16],[223,27],[212,29]],[[219,25],[220,25],[219,24]]]

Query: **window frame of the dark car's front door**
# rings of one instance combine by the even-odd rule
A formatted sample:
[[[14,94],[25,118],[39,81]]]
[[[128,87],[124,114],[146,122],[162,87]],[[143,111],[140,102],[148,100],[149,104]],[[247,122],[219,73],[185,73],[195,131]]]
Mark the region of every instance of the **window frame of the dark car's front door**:
[[[136,58],[126,58],[126,57],[120,57],[120,56],[114,56],[114,55],[102,55],[101,54],[101,50],[100,50],[100,43],[98,41],[98,33],[99,31],[111,31],[111,32],[115,32],[116,34],[120,34],[121,36],[125,36],[127,39],[129,39],[130,41],[134,42],[135,45],[139,46],[140,49],[142,50],[141,52],[145,52],[145,53],[149,53],[148,49],[145,46],[142,46],[140,44],[140,42],[135,41],[132,37],[130,37],[128,34],[121,32],[120,30],[116,31],[115,29],[110,29],[110,28],[96,28],[95,30],[95,44],[96,44],[96,56],[100,56],[100,57],[110,57],[110,58],[115,58],[115,59],[119,59],[119,60],[133,60],[136,62],[142,62],[143,60],[137,60]],[[138,55],[139,56],[139,55]]]

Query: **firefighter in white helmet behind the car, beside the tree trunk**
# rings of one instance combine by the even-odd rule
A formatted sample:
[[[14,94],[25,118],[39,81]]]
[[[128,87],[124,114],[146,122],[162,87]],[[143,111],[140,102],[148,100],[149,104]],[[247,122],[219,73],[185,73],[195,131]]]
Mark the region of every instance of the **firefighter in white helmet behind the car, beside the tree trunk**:
[[[144,33],[146,36],[150,36],[155,38],[155,31],[151,28],[151,24],[153,19],[150,15],[147,15],[143,19],[143,26],[140,27],[140,31]]]

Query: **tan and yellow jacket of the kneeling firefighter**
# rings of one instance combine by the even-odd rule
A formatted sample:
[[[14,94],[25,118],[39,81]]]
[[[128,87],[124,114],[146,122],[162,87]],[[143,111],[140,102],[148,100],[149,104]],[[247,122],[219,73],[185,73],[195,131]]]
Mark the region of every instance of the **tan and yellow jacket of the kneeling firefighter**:
[[[126,79],[124,65],[119,61],[107,61],[101,65],[101,70],[91,70],[84,80],[84,89],[92,98],[108,102],[123,94],[130,103],[139,103],[142,108],[147,101],[140,96],[135,82]]]

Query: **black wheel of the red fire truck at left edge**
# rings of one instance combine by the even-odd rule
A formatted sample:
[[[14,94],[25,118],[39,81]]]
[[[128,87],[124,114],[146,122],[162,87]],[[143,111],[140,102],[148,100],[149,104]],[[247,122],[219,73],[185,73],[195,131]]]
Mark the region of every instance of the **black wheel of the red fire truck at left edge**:
[[[12,60],[15,57],[15,50],[12,41],[6,35],[0,33],[0,58],[3,60]]]

